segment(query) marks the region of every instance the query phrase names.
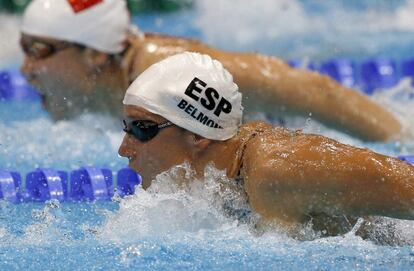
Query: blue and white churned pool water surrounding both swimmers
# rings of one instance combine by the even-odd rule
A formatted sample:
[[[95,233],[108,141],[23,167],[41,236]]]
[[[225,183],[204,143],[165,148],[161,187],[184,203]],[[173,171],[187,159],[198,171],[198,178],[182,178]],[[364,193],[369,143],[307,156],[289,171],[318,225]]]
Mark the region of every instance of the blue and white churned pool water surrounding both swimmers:
[[[284,59],[414,57],[413,1],[200,0],[195,10],[134,18],[145,31],[196,37],[224,49],[259,51]],[[4,24],[3,24],[4,23]],[[0,15],[0,67],[18,66],[19,18]],[[220,31],[217,31],[220,29]],[[4,36],[10,39],[3,38]],[[7,52],[4,53],[4,52]],[[12,55],[12,57],[10,57]],[[373,96],[413,131],[410,82]],[[265,118],[258,112],[251,118]],[[309,118],[287,126],[396,156],[414,154],[414,137],[366,143]],[[118,170],[121,123],[93,114],[54,123],[39,103],[0,103],[0,168],[23,175],[37,167],[61,170],[94,165]],[[185,165],[183,165],[185,166]],[[189,172],[191,174],[191,172]],[[300,240],[255,228],[255,217],[231,216],[223,173],[207,168],[191,187],[174,186],[174,169],[149,191],[112,202],[11,204],[0,202],[0,262],[4,270],[207,269],[408,270],[414,267],[414,223],[379,219],[371,240],[354,232],[320,237],[309,225]],[[239,199],[239,200],[237,200]],[[392,230],[392,233],[389,232]],[[382,240],[382,241],[381,241]]]

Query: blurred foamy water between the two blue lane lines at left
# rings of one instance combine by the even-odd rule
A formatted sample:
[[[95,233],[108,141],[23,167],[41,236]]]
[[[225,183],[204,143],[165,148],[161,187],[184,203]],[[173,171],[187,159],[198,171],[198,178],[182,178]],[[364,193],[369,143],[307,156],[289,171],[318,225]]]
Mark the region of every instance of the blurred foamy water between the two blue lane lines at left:
[[[37,167],[73,170],[94,165],[118,170],[125,166],[127,162],[117,156],[123,137],[120,122],[94,114],[54,122],[39,106],[0,104],[5,119],[0,122],[2,169],[23,173]]]

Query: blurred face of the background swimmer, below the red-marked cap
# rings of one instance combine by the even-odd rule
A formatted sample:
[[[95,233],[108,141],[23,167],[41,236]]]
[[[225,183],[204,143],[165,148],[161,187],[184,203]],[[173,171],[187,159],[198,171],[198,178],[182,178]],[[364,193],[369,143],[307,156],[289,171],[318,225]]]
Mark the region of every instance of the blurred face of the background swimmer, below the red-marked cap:
[[[20,43],[25,52],[21,70],[44,95],[47,110],[60,118],[73,112],[75,105],[88,102],[85,94],[96,88],[98,80],[88,58],[92,49],[24,34]]]

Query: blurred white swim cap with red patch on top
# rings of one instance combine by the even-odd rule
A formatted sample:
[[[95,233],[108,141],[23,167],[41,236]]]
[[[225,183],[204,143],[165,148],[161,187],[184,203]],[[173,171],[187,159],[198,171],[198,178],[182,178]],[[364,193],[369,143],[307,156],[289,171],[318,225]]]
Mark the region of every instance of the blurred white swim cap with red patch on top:
[[[119,53],[124,50],[129,26],[125,0],[33,0],[23,15],[21,30]]]

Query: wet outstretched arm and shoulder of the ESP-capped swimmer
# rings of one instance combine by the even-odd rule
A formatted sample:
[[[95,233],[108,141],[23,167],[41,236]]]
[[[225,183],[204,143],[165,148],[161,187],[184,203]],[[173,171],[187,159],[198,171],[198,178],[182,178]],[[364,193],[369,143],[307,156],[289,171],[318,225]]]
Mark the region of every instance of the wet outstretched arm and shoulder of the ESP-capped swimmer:
[[[414,219],[414,167],[334,140],[282,129],[252,139],[244,180],[252,207],[301,222],[312,213]]]

